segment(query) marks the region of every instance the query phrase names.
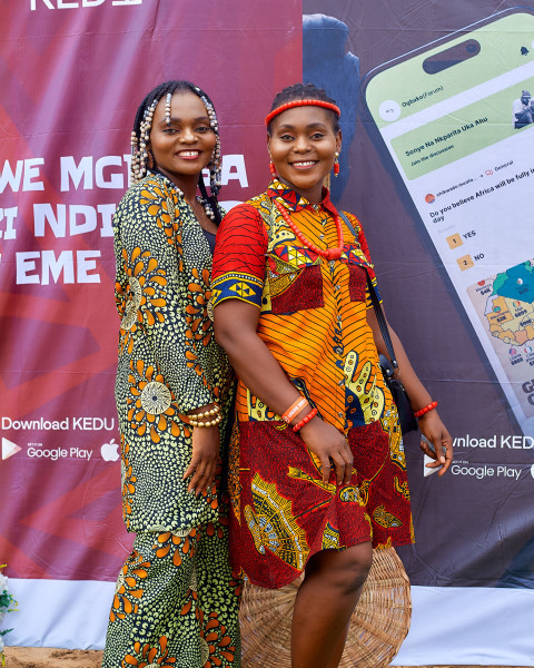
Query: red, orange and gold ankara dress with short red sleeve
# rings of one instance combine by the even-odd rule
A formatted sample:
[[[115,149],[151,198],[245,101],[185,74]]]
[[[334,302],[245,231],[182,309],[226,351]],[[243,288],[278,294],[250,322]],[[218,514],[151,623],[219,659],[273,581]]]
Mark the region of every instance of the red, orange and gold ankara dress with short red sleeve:
[[[319,248],[335,247],[336,209],[325,190],[312,205],[271,181],[233,208],[217,235],[212,304],[243,299],[260,310],[257,333],[319,416],[348,438],[349,484],[322,481],[319,461],[240,382],[230,445],[230,554],[251,582],[279,588],[310,556],[368,540],[412,541],[412,515],[397,411],[378,369],[367,324],[366,272],[376,278],[362,227],[345,223],[344,253],[326,261],[303,246],[277,198]]]

